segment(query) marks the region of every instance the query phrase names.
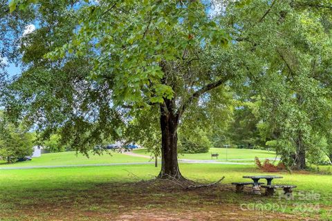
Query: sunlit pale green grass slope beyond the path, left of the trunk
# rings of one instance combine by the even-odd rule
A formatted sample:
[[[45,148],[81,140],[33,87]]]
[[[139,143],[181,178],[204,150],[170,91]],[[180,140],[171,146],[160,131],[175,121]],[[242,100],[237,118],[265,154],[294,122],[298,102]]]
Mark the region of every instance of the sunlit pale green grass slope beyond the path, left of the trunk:
[[[33,157],[33,160],[26,162],[16,162],[14,164],[6,164],[2,162],[0,167],[12,166],[56,166],[56,165],[77,165],[77,164],[110,164],[124,162],[147,162],[149,159],[144,157],[133,157],[122,153],[110,152],[103,155],[89,154],[89,158],[82,153],[76,155],[75,151],[62,153],[45,153],[41,157]]]

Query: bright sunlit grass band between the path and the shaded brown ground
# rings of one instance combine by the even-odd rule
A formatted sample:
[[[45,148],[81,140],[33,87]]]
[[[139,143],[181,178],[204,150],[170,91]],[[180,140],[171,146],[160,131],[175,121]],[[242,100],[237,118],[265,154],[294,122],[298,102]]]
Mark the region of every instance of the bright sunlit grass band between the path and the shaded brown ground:
[[[255,166],[227,164],[180,164],[183,175],[192,180],[212,182],[225,176],[224,183],[248,181],[243,175],[262,175]],[[160,168],[154,165],[120,165],[89,166],[56,169],[0,170],[1,195],[23,191],[25,189],[57,189],[68,183],[76,188],[84,184],[84,188],[94,184],[150,179],[158,175]],[[275,184],[297,184],[297,190],[317,191],[332,201],[332,175],[315,173],[273,173],[282,175],[283,179],[275,179]],[[7,192],[7,193],[6,193]],[[10,194],[15,198],[16,194]]]

